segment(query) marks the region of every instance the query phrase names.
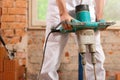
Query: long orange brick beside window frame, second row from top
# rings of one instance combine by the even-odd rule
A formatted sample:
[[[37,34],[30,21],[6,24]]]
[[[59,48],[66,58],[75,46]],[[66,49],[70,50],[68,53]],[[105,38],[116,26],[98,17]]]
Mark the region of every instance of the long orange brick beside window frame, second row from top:
[[[8,14],[12,15],[25,15],[27,13],[26,8],[9,8]]]

